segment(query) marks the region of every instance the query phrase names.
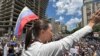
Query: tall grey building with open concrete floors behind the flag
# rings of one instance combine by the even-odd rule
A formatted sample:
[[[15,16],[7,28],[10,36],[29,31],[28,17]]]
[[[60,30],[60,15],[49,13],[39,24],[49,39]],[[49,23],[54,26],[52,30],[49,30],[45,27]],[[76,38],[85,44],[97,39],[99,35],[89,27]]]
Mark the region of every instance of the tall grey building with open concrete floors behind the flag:
[[[0,28],[6,29],[7,33],[13,32],[19,13],[25,6],[29,7],[39,18],[45,18],[48,1],[49,0],[0,0]],[[28,23],[25,29],[32,24],[32,22]]]

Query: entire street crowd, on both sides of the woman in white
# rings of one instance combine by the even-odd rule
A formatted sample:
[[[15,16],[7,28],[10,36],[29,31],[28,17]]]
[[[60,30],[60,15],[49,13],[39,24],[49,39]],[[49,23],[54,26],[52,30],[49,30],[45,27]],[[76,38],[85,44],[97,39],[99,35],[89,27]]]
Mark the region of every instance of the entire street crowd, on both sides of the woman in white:
[[[56,39],[59,37],[58,39]],[[6,38],[6,37],[5,37]],[[23,42],[7,39],[0,39],[0,56],[21,56],[23,50]],[[53,41],[58,41],[63,38],[59,34]],[[100,40],[94,37],[81,38],[79,42],[74,42],[69,50],[63,51],[63,56],[100,56]]]

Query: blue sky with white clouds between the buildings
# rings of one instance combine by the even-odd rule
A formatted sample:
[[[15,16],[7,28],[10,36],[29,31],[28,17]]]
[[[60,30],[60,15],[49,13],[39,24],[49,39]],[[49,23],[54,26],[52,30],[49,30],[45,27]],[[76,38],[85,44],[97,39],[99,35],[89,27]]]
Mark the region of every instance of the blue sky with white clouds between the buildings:
[[[83,0],[49,0],[46,15],[67,26],[69,31],[82,20]]]

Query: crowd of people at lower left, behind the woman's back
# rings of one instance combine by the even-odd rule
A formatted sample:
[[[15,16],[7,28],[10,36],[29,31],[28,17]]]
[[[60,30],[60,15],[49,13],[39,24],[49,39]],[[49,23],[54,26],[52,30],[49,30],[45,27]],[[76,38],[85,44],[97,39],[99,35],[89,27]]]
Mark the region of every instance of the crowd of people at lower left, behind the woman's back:
[[[23,42],[9,40],[9,37],[0,38],[0,56],[20,56]]]

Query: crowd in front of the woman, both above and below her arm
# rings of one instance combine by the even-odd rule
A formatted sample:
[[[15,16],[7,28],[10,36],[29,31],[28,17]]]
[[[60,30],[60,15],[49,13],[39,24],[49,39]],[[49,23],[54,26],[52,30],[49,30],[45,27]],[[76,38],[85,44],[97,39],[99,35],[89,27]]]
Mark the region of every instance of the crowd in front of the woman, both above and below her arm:
[[[58,38],[57,38],[58,37]],[[53,41],[63,38],[59,34]],[[69,50],[63,51],[64,56],[100,56],[100,38],[94,37],[93,32],[81,38],[78,42],[74,42]]]

